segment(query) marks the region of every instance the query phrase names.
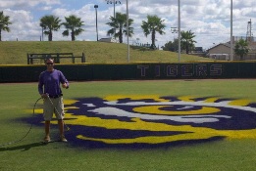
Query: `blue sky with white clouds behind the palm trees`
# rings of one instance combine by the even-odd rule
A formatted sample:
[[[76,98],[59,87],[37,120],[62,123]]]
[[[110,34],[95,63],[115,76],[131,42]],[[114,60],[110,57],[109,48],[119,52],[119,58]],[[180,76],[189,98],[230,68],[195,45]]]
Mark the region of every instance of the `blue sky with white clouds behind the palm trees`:
[[[114,0],[112,0],[113,2]],[[126,13],[126,0],[120,0],[116,12]],[[233,35],[246,36],[248,21],[252,21],[252,34],[256,30],[256,1],[232,0],[233,2]],[[0,11],[11,17],[11,32],[3,32],[2,39],[7,41],[39,41],[41,28],[39,20],[45,15],[54,15],[62,21],[64,17],[76,15],[84,21],[85,31],[77,36],[79,41],[96,40],[96,15],[94,5],[99,6],[99,38],[108,37],[110,27],[105,23],[113,16],[114,5],[106,0],[0,0]],[[140,27],[147,15],[157,15],[165,20],[166,34],[156,35],[156,44],[160,47],[178,36],[172,33],[171,27],[178,26],[178,0],[128,0],[129,18],[134,20],[134,35],[130,44],[150,43]],[[230,39],[230,0],[180,0],[180,29],[191,30],[195,34],[195,45],[208,49],[213,44],[224,43]],[[53,40],[67,40],[61,30],[54,32]],[[255,33],[256,34],[256,33]],[[126,39],[124,37],[124,39]]]

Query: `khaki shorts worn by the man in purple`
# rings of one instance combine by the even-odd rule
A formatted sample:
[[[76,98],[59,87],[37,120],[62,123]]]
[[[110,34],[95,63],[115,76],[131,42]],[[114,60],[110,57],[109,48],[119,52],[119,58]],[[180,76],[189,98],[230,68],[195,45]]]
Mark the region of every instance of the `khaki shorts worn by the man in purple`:
[[[56,99],[53,98],[46,98],[43,101],[43,117],[44,120],[52,120],[53,113],[55,113],[55,116],[58,120],[64,119],[64,104],[63,104],[63,98],[59,97]]]

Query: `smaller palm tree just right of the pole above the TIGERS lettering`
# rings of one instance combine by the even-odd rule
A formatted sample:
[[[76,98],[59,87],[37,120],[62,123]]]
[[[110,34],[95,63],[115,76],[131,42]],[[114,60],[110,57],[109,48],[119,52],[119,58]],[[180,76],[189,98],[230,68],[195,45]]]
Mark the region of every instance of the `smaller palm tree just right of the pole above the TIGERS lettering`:
[[[194,43],[196,43],[196,41],[193,40],[193,38],[195,37],[194,33],[191,32],[191,30],[189,31],[181,31],[181,44],[182,44],[182,49],[185,49],[186,54],[189,53],[189,49],[191,50],[191,48],[194,47]]]

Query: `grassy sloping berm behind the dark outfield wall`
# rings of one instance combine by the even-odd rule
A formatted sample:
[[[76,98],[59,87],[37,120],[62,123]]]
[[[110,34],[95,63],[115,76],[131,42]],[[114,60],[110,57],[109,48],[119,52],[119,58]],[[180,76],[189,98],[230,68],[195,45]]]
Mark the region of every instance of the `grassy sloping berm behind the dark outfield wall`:
[[[74,53],[85,54],[85,62],[91,64],[128,63],[128,45],[93,41],[5,41],[0,42],[0,64],[26,64],[26,54]],[[144,47],[130,46],[129,63],[178,63],[208,61],[193,55],[150,50]],[[37,62],[40,63],[40,62]],[[62,64],[72,63],[71,59],[61,60]],[[80,63],[80,59],[76,59]]]

